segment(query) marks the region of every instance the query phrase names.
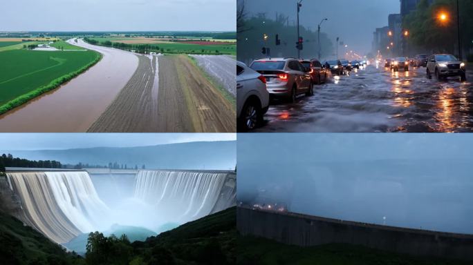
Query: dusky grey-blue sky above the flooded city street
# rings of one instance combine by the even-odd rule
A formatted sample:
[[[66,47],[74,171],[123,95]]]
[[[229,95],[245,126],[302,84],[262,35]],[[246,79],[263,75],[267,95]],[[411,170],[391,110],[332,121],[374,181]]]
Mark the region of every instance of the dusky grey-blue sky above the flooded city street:
[[[296,21],[296,0],[246,0],[245,3],[250,15],[263,12],[274,19],[279,13],[290,16],[290,23]],[[327,18],[322,31],[327,32],[334,43],[335,38],[340,37],[340,41],[349,45],[348,50],[365,55],[371,50],[375,28],[387,26],[388,15],[399,12],[399,0],[304,0],[299,19],[301,25],[317,30],[320,21]]]

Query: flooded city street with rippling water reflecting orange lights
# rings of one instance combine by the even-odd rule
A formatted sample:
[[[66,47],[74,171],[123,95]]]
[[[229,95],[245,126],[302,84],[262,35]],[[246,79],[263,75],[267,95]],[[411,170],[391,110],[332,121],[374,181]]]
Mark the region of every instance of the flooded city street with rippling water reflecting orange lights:
[[[473,85],[425,77],[425,68],[367,66],[333,76],[295,104],[273,100],[257,132],[473,132]]]

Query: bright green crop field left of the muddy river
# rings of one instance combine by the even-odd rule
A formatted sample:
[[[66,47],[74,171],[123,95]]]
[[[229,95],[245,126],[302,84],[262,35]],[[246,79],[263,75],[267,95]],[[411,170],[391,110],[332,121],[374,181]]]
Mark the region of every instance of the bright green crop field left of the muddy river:
[[[0,52],[0,114],[56,88],[100,59],[93,51]]]

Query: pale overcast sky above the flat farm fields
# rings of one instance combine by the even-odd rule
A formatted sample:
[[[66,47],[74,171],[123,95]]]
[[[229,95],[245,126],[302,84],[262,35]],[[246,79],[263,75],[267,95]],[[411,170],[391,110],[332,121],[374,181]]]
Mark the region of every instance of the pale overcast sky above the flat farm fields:
[[[15,0],[0,31],[236,30],[235,0]]]

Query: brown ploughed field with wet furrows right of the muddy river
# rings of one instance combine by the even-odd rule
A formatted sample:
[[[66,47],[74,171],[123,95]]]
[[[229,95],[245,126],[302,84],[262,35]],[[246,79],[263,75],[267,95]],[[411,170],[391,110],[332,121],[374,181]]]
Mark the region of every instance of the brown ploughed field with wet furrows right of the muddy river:
[[[89,132],[235,132],[235,117],[187,56],[140,56],[127,86]]]

